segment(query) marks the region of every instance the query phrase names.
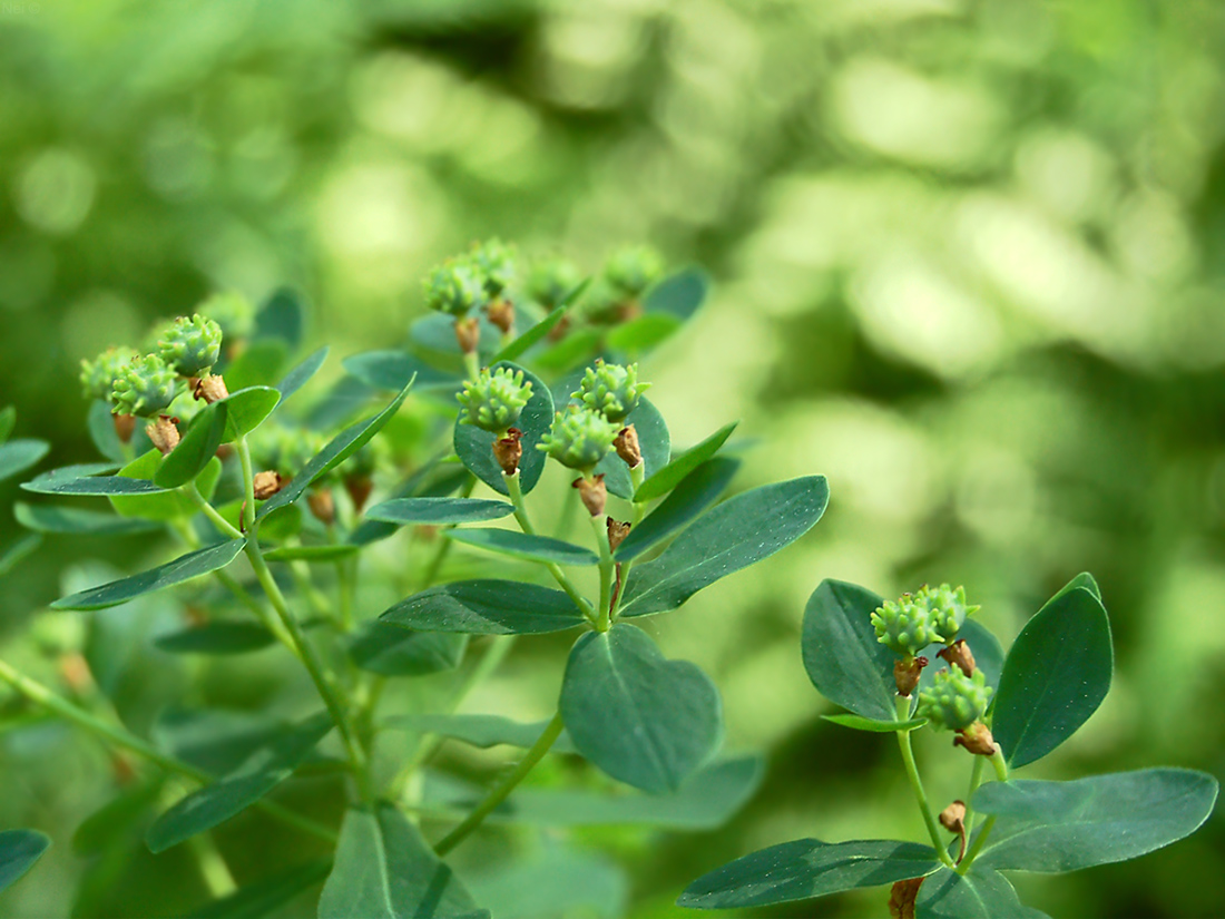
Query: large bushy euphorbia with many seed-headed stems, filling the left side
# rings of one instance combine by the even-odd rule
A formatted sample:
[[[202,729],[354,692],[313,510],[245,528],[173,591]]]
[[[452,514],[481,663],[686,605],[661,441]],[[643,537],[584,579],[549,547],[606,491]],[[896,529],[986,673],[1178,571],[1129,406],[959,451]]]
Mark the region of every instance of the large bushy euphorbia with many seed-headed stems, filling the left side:
[[[82,702],[97,692],[87,680],[70,700],[0,662],[0,679],[107,740],[126,772],[148,766],[138,790],[104,814],[125,814],[127,826],[145,820],[156,853],[190,841],[218,901],[208,914],[262,914],[251,904],[271,909],[326,879],[321,917],[485,915],[497,904],[469,892],[443,859],[486,819],[530,811],[508,810],[512,793],[554,747],[647,793],[588,799],[588,814],[614,822],[717,823],[751,793],[757,763],[717,758],[714,685],[668,659],[635,620],[674,610],[794,542],[828,493],[812,475],[720,502],[739,466],[718,456],[734,425],[674,453],[637,358],[692,314],[706,283],[695,271],[660,276],[658,256],[630,248],[589,286],[560,260],[521,286],[512,249],[479,245],[430,273],[434,312],[412,326],[405,348],[349,358],[349,376],[314,404],[296,393],[327,349],[285,371],[301,316],[283,294],[257,315],[241,298],[214,298],[163,328],[149,353],[113,349],[86,363],[91,433],[107,462],[55,469],[24,488],[103,497],[113,513],[36,502],[20,505],[18,518],[51,533],[156,531],[180,548],[51,605],[83,611],[93,627],[102,610],[176,588],[181,626],[156,637],[160,649],[218,656],[279,645],[316,696],[293,722],[254,735],[244,724],[234,736],[218,712],[168,711],[146,738],[105,700]],[[380,391],[393,395],[369,409]],[[295,396],[296,410],[287,406]],[[552,484],[579,499],[562,515],[588,520],[584,540],[564,538],[565,516],[549,521],[554,535],[538,529],[551,505],[533,493],[548,482],[549,460]],[[397,533],[412,538],[379,548]],[[456,550],[479,576],[448,577]],[[408,596],[388,609],[366,605],[359,584],[380,576],[405,583]],[[571,630],[578,637],[556,663],[557,707],[544,724],[454,713],[517,636]],[[67,653],[97,663],[88,651]],[[454,680],[441,708],[403,711],[412,694],[398,686],[445,671]],[[404,730],[415,736],[408,749],[396,739]],[[430,783],[423,792],[442,736],[527,752],[485,789],[457,792],[452,781],[450,792]],[[344,776],[339,826],[268,796],[311,771]],[[174,792],[168,778],[185,787]],[[252,806],[334,850],[235,890],[208,833]],[[554,809],[554,820],[573,820],[576,807],[581,815],[573,804]],[[421,816],[450,825],[425,833]],[[96,850],[108,819],[82,825],[82,850]],[[24,831],[0,837],[0,885],[40,844]]]

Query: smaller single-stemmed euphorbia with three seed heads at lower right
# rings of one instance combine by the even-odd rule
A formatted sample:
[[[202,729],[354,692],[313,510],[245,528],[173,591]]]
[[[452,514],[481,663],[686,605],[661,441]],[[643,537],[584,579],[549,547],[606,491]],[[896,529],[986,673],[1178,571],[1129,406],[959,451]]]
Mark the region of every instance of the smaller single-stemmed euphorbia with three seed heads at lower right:
[[[947,584],[886,602],[824,581],[804,618],[809,676],[848,709],[827,717],[897,735],[927,843],[796,839],[699,877],[680,904],[726,909],[892,885],[894,919],[1038,919],[1001,871],[1063,872],[1133,859],[1208,819],[1218,783],[1192,770],[1014,778],[1072,736],[1110,689],[1110,622],[1090,575],[1055,594],[1007,657],[969,619],[976,610],[963,588]],[[952,755],[973,757],[963,799],[929,799],[910,741],[925,727],[952,732]],[[996,781],[984,783],[987,765]]]

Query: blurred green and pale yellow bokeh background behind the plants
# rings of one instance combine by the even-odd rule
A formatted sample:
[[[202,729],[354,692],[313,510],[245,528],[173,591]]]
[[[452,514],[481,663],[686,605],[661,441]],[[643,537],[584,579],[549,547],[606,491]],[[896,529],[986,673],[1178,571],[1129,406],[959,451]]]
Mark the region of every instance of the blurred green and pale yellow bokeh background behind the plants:
[[[719,832],[589,834],[631,870],[628,915],[680,915],[690,880],[774,842],[921,838],[892,739],[818,719],[797,640],[823,577],[964,583],[1007,641],[1093,571],[1115,686],[1031,777],[1221,776],[1223,113],[1207,0],[0,2],[0,403],[78,462],[78,360],[217,288],[304,290],[338,374],[473,239],[704,265],[712,301],[643,366],[674,441],[741,418],[741,484],[821,472],[833,499],[649,626],[714,675],[729,747],[769,755]],[[44,545],[0,582],[5,642],[76,554],[123,551]],[[473,708],[546,713],[560,665],[533,654]],[[951,799],[940,763],[963,762],[924,740]],[[97,751],[33,766],[61,743],[0,747],[4,826],[58,842],[0,913],[66,913],[85,870],[66,839],[109,777]],[[1054,917],[1220,915],[1223,858],[1214,817],[1017,886]],[[181,859],[141,876],[173,893]],[[755,914],[883,912],[877,891]]]

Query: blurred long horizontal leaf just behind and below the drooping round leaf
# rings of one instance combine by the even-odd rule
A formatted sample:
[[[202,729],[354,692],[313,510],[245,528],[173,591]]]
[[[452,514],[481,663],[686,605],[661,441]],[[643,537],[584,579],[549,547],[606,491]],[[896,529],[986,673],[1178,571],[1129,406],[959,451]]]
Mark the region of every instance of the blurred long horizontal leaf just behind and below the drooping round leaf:
[[[565,735],[562,735],[565,736]],[[673,830],[714,830],[739,811],[761,785],[766,766],[760,756],[713,762],[690,776],[676,792],[601,793],[566,788],[519,788],[489,820],[528,826],[647,825]],[[467,814],[485,796],[484,789],[452,777],[426,772],[426,811]]]

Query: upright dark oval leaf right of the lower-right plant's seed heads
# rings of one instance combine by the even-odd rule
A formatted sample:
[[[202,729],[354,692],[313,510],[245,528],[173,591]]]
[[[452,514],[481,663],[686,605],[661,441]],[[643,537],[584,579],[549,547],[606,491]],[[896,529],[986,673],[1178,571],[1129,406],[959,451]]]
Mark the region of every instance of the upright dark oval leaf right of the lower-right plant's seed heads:
[[[1020,630],[996,692],[991,733],[1013,768],[1039,760],[1088,720],[1110,690],[1115,654],[1101,600],[1063,591]]]

